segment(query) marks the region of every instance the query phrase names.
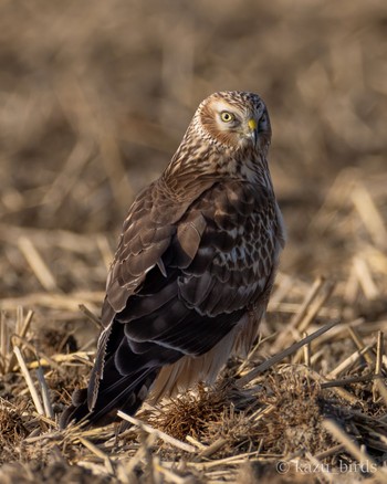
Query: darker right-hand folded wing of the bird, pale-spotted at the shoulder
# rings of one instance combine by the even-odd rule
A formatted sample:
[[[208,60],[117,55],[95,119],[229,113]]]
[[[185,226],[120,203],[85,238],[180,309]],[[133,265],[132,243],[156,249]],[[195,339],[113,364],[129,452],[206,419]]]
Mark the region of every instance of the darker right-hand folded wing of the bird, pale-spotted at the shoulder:
[[[123,373],[127,349],[155,364],[202,355],[263,294],[278,244],[274,200],[237,182],[215,185],[180,219],[142,288],[115,316],[127,338],[115,355]],[[164,351],[166,358],[164,359]],[[168,355],[168,356],[167,356]],[[136,357],[138,358],[138,357]]]

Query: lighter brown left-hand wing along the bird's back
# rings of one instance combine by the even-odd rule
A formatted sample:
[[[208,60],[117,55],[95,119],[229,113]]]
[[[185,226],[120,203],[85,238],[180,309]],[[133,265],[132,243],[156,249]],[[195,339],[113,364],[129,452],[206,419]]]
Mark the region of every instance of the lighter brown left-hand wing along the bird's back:
[[[115,316],[130,304],[130,296],[138,293],[149,272],[150,280],[155,274],[167,275],[161,256],[177,231],[177,222],[191,202],[212,183],[211,180],[198,179],[197,182],[190,183],[190,188],[179,200],[176,200],[169,196],[164,179],[160,178],[145,188],[130,207],[106,283],[106,297],[102,309],[105,329],[98,340],[87,391],[90,409],[95,406],[105,360],[115,351],[116,337],[112,336]],[[195,250],[194,243],[191,252]]]

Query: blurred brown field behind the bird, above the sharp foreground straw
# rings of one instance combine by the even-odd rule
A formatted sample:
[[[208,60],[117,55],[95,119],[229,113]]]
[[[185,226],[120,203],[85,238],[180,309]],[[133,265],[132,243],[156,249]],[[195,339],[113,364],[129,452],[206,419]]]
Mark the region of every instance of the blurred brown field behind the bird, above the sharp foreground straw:
[[[282,271],[347,270],[358,236],[380,255],[386,40],[384,0],[2,0],[0,297],[103,292],[133,198],[221,90],[269,107]]]

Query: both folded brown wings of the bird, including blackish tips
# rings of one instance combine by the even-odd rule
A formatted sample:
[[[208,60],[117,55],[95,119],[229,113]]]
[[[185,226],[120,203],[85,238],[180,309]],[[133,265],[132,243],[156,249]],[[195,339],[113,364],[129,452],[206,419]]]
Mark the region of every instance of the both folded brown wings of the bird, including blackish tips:
[[[220,341],[265,293],[279,252],[264,188],[215,183],[171,203],[158,183],[134,203],[107,283],[87,392],[98,423],[136,411],[163,366]],[[75,402],[66,418],[84,414]]]

